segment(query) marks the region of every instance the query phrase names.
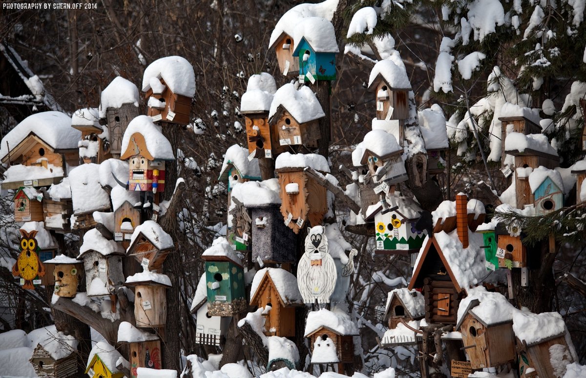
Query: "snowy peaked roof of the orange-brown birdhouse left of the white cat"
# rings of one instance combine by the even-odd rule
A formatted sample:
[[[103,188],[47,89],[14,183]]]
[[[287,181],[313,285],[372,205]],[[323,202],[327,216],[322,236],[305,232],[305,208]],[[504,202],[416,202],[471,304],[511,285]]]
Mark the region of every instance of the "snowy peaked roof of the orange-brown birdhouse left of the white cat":
[[[250,304],[258,303],[264,285],[268,284],[277,289],[282,306],[303,303],[301,293],[297,287],[297,277],[280,268],[264,268],[256,272],[250,289]]]

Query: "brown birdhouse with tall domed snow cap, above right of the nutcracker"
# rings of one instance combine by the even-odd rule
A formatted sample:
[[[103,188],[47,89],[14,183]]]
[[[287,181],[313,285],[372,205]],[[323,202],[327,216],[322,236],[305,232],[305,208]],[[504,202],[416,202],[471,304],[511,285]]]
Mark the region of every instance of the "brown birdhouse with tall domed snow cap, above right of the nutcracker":
[[[155,60],[142,76],[142,92],[154,122],[188,124],[195,94],[193,66],[180,56]]]

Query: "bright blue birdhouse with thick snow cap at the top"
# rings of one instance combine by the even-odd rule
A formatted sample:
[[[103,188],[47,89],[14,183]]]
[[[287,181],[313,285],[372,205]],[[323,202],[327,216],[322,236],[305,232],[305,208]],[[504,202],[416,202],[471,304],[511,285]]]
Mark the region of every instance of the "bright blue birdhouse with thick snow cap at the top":
[[[303,18],[295,26],[293,41],[300,78],[303,76],[305,82],[310,83],[336,80],[336,55],[340,50],[331,22],[321,17]]]

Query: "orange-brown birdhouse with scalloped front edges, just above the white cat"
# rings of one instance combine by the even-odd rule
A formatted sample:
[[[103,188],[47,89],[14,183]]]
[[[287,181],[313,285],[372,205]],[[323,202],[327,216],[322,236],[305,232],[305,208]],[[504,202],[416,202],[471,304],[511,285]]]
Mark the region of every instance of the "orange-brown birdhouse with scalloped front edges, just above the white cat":
[[[282,153],[275,161],[280,197],[281,215],[295,234],[309,221],[312,226],[321,224],[328,210],[326,188],[305,171],[329,173],[328,161],[318,154]]]

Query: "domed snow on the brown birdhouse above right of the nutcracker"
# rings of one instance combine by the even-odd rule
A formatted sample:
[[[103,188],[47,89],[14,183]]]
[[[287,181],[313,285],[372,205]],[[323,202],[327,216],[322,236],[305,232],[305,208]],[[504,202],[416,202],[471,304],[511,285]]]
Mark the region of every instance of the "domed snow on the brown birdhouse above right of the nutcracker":
[[[195,72],[187,59],[166,56],[152,62],[142,76],[142,92],[151,89],[151,78],[162,78],[171,92],[193,97],[195,94]]]

